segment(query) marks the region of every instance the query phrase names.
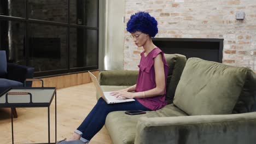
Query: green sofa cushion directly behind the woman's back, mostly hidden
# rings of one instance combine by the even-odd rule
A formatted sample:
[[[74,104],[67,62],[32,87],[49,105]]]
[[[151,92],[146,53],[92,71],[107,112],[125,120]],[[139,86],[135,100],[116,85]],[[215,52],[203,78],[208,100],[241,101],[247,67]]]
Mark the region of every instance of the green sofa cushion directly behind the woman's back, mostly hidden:
[[[173,102],[173,97],[181,78],[182,71],[187,62],[187,58],[179,54],[164,54],[166,62],[169,66],[167,82],[166,82],[166,101],[168,104]]]

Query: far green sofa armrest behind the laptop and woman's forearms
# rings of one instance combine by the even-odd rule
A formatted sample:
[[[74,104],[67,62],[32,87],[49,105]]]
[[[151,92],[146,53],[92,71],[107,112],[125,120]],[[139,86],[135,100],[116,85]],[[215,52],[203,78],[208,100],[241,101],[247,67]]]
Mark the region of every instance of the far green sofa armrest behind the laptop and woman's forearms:
[[[136,84],[137,76],[137,70],[101,71],[99,82],[100,85],[107,86],[132,86]]]

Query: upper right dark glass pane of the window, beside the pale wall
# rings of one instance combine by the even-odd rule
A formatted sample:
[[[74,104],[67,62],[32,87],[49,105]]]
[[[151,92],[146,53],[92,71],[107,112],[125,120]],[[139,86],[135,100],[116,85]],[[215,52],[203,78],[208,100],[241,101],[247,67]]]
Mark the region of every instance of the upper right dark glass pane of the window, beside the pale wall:
[[[70,1],[70,22],[77,25],[97,27],[98,1]]]

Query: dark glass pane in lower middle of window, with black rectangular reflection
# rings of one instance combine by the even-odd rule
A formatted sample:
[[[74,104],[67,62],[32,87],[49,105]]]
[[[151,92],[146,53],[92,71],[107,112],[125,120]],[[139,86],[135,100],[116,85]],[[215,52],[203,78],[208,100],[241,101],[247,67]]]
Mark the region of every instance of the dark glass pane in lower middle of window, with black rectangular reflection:
[[[27,46],[36,72],[67,69],[67,27],[31,23]]]

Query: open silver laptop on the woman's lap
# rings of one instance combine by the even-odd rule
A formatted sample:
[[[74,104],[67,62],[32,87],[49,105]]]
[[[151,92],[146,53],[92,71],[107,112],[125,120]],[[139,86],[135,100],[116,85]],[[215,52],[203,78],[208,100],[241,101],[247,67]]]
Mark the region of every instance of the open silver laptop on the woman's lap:
[[[125,102],[135,101],[135,99],[115,98],[113,95],[110,95],[111,92],[103,92],[101,89],[100,83],[98,83],[97,77],[95,75],[93,75],[90,71],[88,71],[88,72],[90,74],[92,82],[94,82],[96,91],[106,101],[107,104],[125,103]]]

